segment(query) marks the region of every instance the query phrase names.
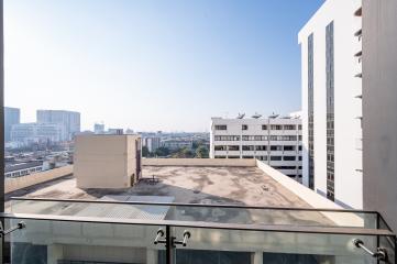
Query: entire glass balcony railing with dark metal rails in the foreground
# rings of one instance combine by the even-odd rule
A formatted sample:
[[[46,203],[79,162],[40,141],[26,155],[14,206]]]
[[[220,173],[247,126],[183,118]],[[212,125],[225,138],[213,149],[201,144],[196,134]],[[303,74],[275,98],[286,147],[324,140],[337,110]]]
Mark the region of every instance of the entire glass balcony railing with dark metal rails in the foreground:
[[[2,217],[11,263],[396,263],[372,211],[13,199]]]

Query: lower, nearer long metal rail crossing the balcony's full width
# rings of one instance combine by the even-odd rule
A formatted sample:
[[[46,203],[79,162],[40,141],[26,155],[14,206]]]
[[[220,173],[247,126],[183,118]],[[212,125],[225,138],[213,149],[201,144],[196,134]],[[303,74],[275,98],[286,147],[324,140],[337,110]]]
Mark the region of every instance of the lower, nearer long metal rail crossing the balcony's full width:
[[[151,220],[151,219],[117,219],[99,217],[76,217],[76,216],[52,216],[52,215],[32,215],[32,213],[0,213],[3,219],[25,219],[40,221],[59,221],[59,222],[87,222],[87,223],[109,223],[109,224],[140,224],[140,226],[161,226],[161,227],[183,227],[183,228],[205,228],[205,229],[224,229],[242,231],[263,231],[263,232],[286,232],[286,233],[319,233],[319,234],[350,234],[350,235],[371,235],[371,237],[392,237],[396,235],[389,230],[365,229],[365,228],[345,228],[345,227],[308,227],[308,226],[288,226],[288,224],[247,224],[247,223],[217,223],[200,221],[175,221],[175,220]]]

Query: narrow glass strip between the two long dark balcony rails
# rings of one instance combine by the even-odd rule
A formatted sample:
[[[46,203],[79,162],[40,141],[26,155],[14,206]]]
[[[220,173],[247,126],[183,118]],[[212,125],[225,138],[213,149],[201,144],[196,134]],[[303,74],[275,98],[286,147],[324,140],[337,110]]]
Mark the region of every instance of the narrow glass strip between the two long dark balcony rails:
[[[98,204],[71,201],[13,200],[15,213],[103,217],[124,219],[175,220],[188,222],[286,224],[301,227],[352,227],[376,229],[376,213],[252,209],[220,206],[156,206],[129,204]]]

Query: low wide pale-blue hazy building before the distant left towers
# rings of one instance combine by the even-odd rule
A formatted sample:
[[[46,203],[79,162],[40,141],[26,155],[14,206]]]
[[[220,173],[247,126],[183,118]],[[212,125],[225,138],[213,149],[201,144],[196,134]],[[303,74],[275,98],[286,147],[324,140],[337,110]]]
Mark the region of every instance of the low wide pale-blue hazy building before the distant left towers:
[[[59,142],[65,139],[65,127],[59,123],[20,123],[11,128],[11,141],[30,143]]]

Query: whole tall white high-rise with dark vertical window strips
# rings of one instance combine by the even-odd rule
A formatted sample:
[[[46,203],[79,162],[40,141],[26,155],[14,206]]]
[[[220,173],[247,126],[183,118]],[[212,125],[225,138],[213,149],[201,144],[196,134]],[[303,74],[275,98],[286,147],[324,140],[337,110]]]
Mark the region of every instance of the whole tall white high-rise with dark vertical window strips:
[[[362,208],[361,0],[328,0],[299,32],[304,184]]]

